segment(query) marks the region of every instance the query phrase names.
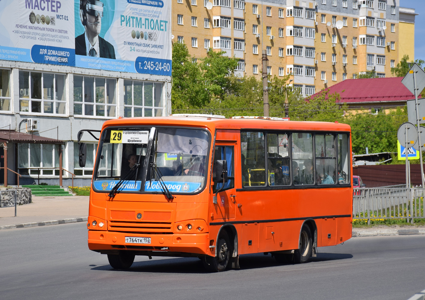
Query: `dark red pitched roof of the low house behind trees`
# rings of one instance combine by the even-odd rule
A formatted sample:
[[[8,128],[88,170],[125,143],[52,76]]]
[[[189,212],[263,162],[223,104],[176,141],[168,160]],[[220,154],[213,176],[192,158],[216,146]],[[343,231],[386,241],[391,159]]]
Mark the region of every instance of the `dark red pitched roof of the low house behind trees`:
[[[402,83],[403,77],[346,79],[325,91],[339,93],[338,103],[400,102],[414,99]],[[316,97],[322,91],[314,94]]]

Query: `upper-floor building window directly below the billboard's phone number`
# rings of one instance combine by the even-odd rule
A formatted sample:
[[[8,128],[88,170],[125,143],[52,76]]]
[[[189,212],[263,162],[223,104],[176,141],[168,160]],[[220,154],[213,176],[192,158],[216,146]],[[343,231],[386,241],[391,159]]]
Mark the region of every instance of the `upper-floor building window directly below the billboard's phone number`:
[[[163,111],[163,84],[124,80],[124,117],[160,117]]]

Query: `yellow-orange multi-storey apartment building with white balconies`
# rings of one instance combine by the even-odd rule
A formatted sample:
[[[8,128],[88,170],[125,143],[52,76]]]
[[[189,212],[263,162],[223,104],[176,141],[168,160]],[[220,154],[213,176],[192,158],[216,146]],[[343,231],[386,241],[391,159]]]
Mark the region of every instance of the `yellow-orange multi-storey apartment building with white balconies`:
[[[304,95],[365,71],[391,77],[414,57],[416,14],[399,0],[174,1],[173,42],[194,60],[223,50],[239,59],[236,74],[261,77],[265,50],[268,74],[291,74]]]

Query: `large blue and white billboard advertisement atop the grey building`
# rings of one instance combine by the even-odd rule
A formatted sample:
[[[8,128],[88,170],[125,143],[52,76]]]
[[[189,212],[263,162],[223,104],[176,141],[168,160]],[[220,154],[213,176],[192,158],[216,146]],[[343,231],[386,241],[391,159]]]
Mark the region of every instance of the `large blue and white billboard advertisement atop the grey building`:
[[[170,0],[0,0],[0,60],[171,76]]]

